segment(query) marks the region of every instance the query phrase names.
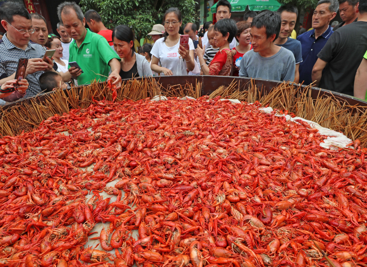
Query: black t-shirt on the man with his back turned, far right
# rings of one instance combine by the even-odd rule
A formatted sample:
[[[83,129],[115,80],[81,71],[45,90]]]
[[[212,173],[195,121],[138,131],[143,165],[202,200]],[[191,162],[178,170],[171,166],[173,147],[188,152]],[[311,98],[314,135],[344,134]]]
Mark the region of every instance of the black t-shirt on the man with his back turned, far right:
[[[354,77],[367,50],[367,22],[339,28],[318,53],[326,65],[320,87],[353,96]]]

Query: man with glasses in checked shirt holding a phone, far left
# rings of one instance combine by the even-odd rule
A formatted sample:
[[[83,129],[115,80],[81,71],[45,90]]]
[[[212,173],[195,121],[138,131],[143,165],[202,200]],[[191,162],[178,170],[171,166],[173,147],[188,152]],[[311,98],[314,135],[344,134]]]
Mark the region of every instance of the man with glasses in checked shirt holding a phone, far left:
[[[0,84],[14,80],[19,59],[28,58],[25,76],[29,87],[25,97],[33,97],[41,92],[38,80],[45,71],[52,70],[52,61],[49,58],[47,62],[43,61],[43,47],[29,42],[35,30],[24,6],[17,2],[5,2],[0,7],[0,20],[6,30],[0,42]]]

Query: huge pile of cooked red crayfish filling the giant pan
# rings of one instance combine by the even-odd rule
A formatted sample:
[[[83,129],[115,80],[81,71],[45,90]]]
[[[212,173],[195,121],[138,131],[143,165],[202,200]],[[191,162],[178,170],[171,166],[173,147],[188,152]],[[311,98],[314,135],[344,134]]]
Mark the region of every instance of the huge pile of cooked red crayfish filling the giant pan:
[[[0,267],[365,266],[367,150],[260,107],[94,101],[1,137]]]

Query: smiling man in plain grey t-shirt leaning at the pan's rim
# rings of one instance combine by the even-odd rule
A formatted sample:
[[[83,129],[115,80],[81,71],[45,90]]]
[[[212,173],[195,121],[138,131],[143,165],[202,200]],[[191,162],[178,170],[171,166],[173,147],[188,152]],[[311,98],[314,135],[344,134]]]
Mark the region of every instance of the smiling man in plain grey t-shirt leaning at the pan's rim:
[[[280,32],[280,24],[279,14],[269,10],[253,19],[251,23],[253,49],[242,57],[240,77],[294,81],[293,53],[274,44]]]

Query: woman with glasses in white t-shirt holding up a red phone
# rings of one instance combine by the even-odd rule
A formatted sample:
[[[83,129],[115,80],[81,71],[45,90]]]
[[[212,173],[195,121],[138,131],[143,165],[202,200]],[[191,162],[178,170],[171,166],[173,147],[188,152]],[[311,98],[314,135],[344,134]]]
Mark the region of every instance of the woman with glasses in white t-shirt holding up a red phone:
[[[189,38],[189,51],[180,46],[180,34],[178,33],[181,25],[181,12],[176,7],[169,8],[163,16],[163,24],[166,28],[164,37],[158,39],[151,50],[151,69],[161,75],[181,75],[178,66],[183,66],[188,71],[195,68],[194,62],[194,43]],[[183,62],[180,62],[182,60]],[[158,66],[160,63],[160,66]],[[185,70],[184,70],[185,71]]]

